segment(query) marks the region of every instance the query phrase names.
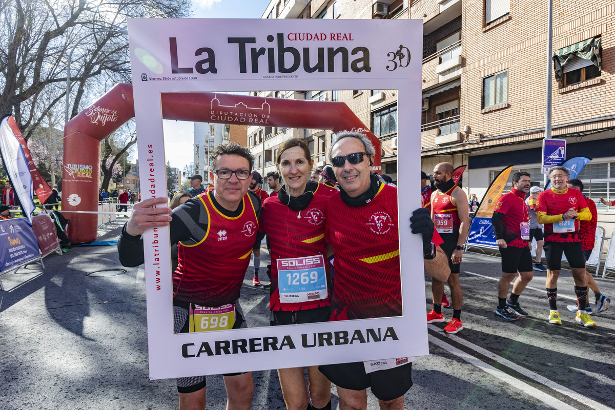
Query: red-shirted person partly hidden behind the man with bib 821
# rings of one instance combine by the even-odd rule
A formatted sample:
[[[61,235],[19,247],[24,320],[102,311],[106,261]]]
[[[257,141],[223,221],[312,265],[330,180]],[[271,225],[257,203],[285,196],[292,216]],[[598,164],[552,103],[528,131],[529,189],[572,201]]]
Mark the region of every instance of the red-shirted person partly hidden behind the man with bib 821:
[[[578,189],[583,193],[583,183],[581,179],[569,179],[568,183],[569,188]],[[603,312],[609,308],[609,303],[611,303],[611,299],[607,298],[605,295],[600,293],[600,289],[596,284],[596,281],[593,280],[593,276],[587,272],[587,261],[589,261],[589,256],[592,254],[593,246],[596,243],[596,227],[598,226],[598,210],[596,208],[596,203],[593,200],[589,199],[587,196],[583,195],[585,198],[585,202],[587,202],[587,208],[592,213],[592,219],[589,221],[581,221],[581,228],[579,229],[579,236],[581,236],[581,246],[583,248],[583,255],[585,256],[585,278],[587,278],[587,286],[592,290],[594,296],[596,297],[596,313]],[[588,291],[589,293],[589,291]],[[587,295],[587,299],[589,299],[589,294]],[[568,305],[568,310],[571,312],[576,312],[579,310],[578,304],[576,305]],[[585,312],[593,313],[592,307],[587,304],[585,307]]]

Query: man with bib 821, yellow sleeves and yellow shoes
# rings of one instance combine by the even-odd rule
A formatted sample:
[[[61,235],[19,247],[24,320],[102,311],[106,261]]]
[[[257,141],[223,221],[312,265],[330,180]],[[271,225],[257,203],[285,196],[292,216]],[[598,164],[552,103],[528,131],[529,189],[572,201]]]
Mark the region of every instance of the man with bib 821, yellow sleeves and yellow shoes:
[[[549,170],[551,188],[538,194],[536,218],[544,224],[544,250],[547,259],[547,297],[549,298],[549,323],[561,325],[557,310],[557,279],[561,270],[561,254],[566,255],[574,278],[578,310],[576,321],[586,328],[596,326],[585,312],[587,306],[587,278],[585,257],[579,235],[579,221],[590,221],[592,214],[578,189],[568,188],[570,172],[564,167]]]

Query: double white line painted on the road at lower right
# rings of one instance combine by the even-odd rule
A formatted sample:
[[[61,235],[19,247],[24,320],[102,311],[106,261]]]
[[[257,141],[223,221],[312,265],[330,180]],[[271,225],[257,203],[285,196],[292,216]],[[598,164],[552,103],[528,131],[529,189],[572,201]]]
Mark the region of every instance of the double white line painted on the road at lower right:
[[[440,328],[437,328],[434,325],[427,325],[427,328],[431,329],[432,331],[435,332],[442,332],[442,330]],[[452,341],[458,342],[459,344],[464,345],[465,347],[467,347],[468,349],[474,350],[475,352],[479,353],[480,355],[483,355],[485,357],[490,358],[491,360],[496,361],[497,363],[506,366],[507,368],[510,368],[514,371],[516,371],[517,373],[523,374],[523,376],[526,376],[530,379],[536,380],[536,382],[539,382],[542,385],[545,385],[553,390],[555,390],[556,392],[562,394],[562,395],[566,395],[570,398],[572,398],[573,400],[578,401],[579,403],[585,404],[586,406],[589,406],[592,409],[595,410],[612,410],[609,406],[605,406],[604,404],[598,403],[595,400],[592,400],[590,398],[588,398],[587,396],[581,395],[577,392],[574,392],[573,390],[570,390],[568,387],[564,387],[560,384],[555,383],[552,380],[547,379],[544,376],[541,376],[538,373],[535,373],[529,369],[526,369],[522,366],[517,365],[516,363],[513,363],[510,360],[507,360],[501,356],[496,355],[493,352],[490,352],[489,350],[483,349],[482,347],[475,345],[472,342],[468,342],[465,341],[464,339],[461,339],[461,337],[456,336],[454,334],[448,334],[447,335],[449,339],[451,339]],[[549,404],[549,406],[552,406],[558,410],[564,410],[564,409],[574,409],[574,407],[571,407],[569,404],[564,403],[563,401],[557,400],[556,398],[548,395],[547,393],[542,392],[541,390],[538,390],[537,388],[532,387],[531,385],[526,384],[525,382],[522,382],[521,380],[515,379],[515,377],[510,376],[509,374],[503,373],[502,371],[494,368],[491,365],[488,365],[487,363],[478,360],[475,357],[472,357],[471,355],[469,355],[466,352],[463,352],[462,350],[457,349],[456,347],[453,347],[452,345],[446,343],[445,341],[442,341],[440,339],[438,339],[435,336],[429,335],[429,342],[437,345],[438,347],[441,347],[442,349],[447,350],[448,352],[453,353],[454,355],[457,355],[458,357],[462,358],[463,360],[467,361],[468,363],[477,366],[478,368],[483,369],[484,371],[486,371],[489,374],[492,374],[495,377],[498,377],[498,379],[507,382],[508,384],[512,385],[513,387],[518,388],[519,390],[522,390],[525,393],[528,393],[531,396],[534,396],[535,398],[537,398],[538,400],[541,400],[544,403]]]

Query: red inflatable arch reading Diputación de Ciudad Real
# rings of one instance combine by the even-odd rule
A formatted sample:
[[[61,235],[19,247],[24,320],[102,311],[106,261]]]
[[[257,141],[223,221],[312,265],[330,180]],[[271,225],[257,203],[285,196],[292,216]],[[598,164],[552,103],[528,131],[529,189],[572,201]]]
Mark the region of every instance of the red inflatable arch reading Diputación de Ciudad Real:
[[[230,114],[232,112],[232,114]],[[284,98],[249,97],[224,93],[162,93],[162,118],[221,124],[316,128],[340,132],[360,130],[376,148],[374,169],[381,170],[381,143],[345,103]],[[62,209],[98,211],[100,141],[135,116],[132,85],[117,84],[64,127]],[[95,213],[69,214],[72,243],[96,240]]]

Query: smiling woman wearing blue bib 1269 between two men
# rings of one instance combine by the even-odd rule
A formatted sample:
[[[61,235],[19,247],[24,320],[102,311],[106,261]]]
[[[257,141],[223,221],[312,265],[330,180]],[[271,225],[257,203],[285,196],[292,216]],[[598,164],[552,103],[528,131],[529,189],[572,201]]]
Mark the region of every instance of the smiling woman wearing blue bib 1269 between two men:
[[[276,166],[284,186],[263,203],[259,224],[271,245],[269,323],[328,321],[331,278],[324,234],[331,192],[309,181],[314,160],[303,140],[284,141]],[[277,371],[287,409],[330,409],[331,382],[317,366],[308,366],[306,388],[304,372],[303,367]]]

